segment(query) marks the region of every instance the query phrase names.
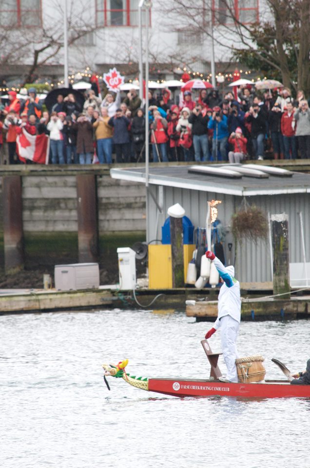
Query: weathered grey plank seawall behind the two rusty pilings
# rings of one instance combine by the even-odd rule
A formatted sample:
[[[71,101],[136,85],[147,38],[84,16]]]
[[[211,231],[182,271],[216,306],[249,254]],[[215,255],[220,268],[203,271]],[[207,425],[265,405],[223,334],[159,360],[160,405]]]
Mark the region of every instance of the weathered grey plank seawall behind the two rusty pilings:
[[[145,231],[145,187],[112,179],[109,170],[81,166],[2,166],[0,210],[3,214],[2,177],[21,176],[24,233],[77,232],[77,174],[97,179],[99,234]],[[3,231],[0,216],[0,231]]]

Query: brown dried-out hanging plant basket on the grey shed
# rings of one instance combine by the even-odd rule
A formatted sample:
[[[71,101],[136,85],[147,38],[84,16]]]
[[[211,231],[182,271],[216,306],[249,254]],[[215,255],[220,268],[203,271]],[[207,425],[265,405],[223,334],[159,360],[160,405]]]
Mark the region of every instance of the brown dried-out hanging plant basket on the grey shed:
[[[259,239],[266,240],[268,236],[268,219],[266,213],[255,205],[249,205],[244,200],[241,209],[232,215],[232,234],[239,242]]]

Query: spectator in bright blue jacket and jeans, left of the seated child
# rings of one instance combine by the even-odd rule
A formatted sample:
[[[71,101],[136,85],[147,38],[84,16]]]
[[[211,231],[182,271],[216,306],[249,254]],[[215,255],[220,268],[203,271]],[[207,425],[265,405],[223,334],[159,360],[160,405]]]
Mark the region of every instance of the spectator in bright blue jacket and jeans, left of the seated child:
[[[223,115],[220,107],[213,107],[212,118],[208,122],[208,128],[213,130],[212,156],[217,161],[218,150],[223,161],[227,161],[227,140],[229,137],[227,117]]]

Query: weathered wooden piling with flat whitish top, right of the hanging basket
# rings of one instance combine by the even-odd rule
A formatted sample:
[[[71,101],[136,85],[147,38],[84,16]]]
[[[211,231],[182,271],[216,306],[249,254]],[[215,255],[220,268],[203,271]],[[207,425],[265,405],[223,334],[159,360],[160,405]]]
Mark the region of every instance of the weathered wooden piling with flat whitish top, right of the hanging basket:
[[[271,241],[273,252],[273,294],[291,297],[289,259],[289,217],[285,213],[271,215]]]

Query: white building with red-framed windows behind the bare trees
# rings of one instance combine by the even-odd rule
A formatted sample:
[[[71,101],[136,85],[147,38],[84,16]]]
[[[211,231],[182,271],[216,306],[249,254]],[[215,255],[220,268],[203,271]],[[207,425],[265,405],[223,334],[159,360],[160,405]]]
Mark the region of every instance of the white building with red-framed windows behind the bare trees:
[[[66,1],[69,40],[87,31],[69,47],[69,70],[88,66],[101,73],[107,65],[116,63],[134,70],[132,64],[138,59],[138,0]],[[157,68],[165,68],[166,75],[175,65],[184,64],[209,73],[212,22],[215,61],[229,61],[238,35],[228,2],[232,2],[237,20],[245,24],[260,20],[264,14],[263,2],[258,0],[199,0],[188,2],[188,8],[181,6],[181,0],[154,0],[149,15],[150,63],[161,64]],[[64,0],[1,1],[0,26],[11,26],[12,38],[4,47],[9,54],[10,48],[14,50],[15,64],[32,63],[34,50],[48,43],[51,46],[40,52],[38,63],[46,60],[45,65],[63,64],[63,4]],[[145,20],[144,12],[144,24]],[[153,71],[158,73],[156,65]]]

